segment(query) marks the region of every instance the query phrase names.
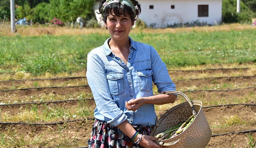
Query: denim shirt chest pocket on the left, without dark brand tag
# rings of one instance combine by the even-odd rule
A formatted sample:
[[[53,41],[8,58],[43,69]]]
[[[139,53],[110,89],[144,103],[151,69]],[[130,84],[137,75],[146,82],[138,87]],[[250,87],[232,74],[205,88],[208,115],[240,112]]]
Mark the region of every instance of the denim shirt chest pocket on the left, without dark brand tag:
[[[123,73],[108,73],[107,79],[111,95],[117,96],[124,92]]]

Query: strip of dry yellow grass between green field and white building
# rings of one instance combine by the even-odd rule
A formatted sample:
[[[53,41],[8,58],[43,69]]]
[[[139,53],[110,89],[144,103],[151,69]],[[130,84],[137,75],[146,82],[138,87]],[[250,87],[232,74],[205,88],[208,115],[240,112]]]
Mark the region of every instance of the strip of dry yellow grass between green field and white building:
[[[0,30],[0,34],[4,36],[40,36],[40,35],[84,35],[84,34],[108,34],[106,28],[70,28],[70,27],[37,27],[37,26],[16,26],[17,32],[15,34],[11,33],[11,26],[5,23]],[[220,26],[204,26],[204,27],[184,27],[184,28],[145,28],[132,29],[131,33],[178,33],[178,32],[214,32],[214,31],[230,31],[230,30],[247,30],[256,29],[251,24],[224,24]]]

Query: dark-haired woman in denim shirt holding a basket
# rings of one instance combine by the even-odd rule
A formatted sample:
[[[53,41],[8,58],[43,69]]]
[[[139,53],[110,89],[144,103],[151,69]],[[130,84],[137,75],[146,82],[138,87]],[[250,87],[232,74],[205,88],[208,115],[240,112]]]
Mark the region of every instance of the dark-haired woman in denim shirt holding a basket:
[[[129,33],[140,13],[136,0],[101,0],[99,14],[111,38],[87,56],[89,86],[96,103],[89,148],[164,148],[150,135],[155,125],[154,105],[174,103],[175,90],[156,50],[134,42]]]

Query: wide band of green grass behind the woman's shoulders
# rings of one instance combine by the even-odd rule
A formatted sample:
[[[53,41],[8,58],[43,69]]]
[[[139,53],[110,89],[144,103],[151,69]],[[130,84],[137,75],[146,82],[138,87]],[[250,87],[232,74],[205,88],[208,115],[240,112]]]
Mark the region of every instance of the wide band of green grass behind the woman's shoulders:
[[[256,30],[189,33],[131,33],[134,41],[152,45],[168,68],[216,63],[256,62]],[[0,73],[33,75],[72,73],[86,69],[87,53],[109,35],[0,36]]]

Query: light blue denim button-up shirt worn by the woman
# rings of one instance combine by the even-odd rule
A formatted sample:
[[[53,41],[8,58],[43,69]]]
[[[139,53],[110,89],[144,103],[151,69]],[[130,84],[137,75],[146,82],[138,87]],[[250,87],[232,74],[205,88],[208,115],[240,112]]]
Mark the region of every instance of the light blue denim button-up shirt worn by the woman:
[[[142,105],[133,112],[125,108],[125,101],[152,96],[153,82],[158,92],[175,90],[166,65],[152,46],[131,38],[126,65],[110,50],[108,40],[87,55],[86,77],[96,103],[94,117],[114,126],[125,120],[132,125],[155,125],[154,105]]]

